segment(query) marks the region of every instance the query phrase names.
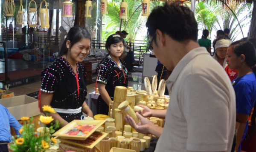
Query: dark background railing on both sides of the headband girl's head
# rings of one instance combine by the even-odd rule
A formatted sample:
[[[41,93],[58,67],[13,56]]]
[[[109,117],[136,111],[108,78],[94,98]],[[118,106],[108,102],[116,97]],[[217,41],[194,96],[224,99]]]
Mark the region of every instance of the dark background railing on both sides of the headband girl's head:
[[[103,40],[93,40],[92,49],[105,49],[106,41]],[[134,51],[134,58],[139,62],[139,66],[143,64],[143,53],[147,52],[148,43],[133,43],[128,42],[131,50]]]

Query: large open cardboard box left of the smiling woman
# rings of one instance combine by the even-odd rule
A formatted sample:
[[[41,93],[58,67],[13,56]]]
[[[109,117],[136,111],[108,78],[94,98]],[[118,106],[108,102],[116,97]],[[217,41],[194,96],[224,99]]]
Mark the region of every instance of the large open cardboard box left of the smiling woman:
[[[27,95],[0,99],[0,104],[5,106],[17,120],[21,117],[40,115],[38,100]]]

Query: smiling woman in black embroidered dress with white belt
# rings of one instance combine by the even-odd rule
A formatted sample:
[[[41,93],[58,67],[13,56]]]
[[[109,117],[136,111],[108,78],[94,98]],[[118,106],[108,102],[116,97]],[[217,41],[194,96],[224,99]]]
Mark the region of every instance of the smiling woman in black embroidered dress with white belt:
[[[90,41],[87,29],[72,27],[62,44],[59,57],[41,73],[39,106],[52,106],[56,113],[50,116],[63,121],[61,127],[74,119],[81,119],[82,111],[93,117],[85,103],[86,70],[81,63],[90,51]]]

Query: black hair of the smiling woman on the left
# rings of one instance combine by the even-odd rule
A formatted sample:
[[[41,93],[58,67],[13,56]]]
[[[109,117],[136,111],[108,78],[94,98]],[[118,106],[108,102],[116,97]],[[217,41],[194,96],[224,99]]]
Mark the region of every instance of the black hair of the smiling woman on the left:
[[[61,50],[59,51],[59,56],[67,54],[67,51],[68,51],[67,46],[66,46],[67,40],[70,40],[70,44],[71,44],[70,48],[72,48],[72,46],[74,44],[76,44],[83,38],[87,38],[87,39],[91,40],[91,36],[90,36],[90,33],[88,32],[88,30],[82,26],[72,27],[69,30],[69,32],[67,33],[67,37],[61,46]]]

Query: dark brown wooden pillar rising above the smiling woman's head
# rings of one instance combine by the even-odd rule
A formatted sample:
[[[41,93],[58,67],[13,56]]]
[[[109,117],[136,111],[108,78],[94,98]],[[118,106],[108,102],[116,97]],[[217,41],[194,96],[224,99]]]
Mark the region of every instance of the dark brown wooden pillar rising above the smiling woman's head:
[[[85,0],[76,0],[75,26],[85,27]]]

